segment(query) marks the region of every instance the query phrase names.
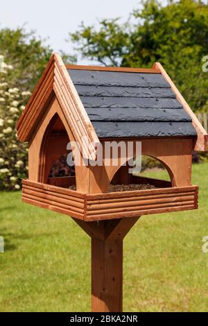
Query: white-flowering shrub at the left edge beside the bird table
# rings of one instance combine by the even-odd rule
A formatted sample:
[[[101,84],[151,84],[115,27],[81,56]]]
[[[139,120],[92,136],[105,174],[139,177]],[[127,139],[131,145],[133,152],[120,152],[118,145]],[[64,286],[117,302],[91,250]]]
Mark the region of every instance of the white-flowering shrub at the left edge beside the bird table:
[[[10,69],[0,55],[0,190],[20,189],[28,170],[28,146],[17,140],[15,125],[31,93],[8,85]]]

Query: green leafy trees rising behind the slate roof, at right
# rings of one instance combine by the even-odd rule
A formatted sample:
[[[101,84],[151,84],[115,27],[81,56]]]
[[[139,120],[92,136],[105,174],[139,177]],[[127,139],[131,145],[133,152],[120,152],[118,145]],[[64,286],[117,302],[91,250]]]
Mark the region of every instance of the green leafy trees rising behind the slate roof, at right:
[[[151,67],[162,63],[193,110],[205,110],[208,78],[202,57],[208,54],[208,6],[200,1],[146,0],[124,24],[103,19],[99,27],[81,24],[70,40],[83,58],[101,65]]]

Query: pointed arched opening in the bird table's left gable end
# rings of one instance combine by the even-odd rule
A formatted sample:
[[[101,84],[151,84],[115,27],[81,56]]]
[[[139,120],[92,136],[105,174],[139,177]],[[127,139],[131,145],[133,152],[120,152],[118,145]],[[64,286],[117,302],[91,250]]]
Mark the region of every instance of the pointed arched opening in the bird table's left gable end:
[[[74,166],[67,164],[69,136],[58,114],[51,119],[42,139],[39,182],[68,188],[76,185]]]

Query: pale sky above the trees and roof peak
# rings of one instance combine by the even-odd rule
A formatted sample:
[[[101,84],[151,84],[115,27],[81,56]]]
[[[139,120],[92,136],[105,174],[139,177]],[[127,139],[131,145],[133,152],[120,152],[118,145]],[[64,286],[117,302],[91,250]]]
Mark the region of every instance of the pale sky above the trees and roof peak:
[[[98,24],[98,19],[121,17],[128,19],[133,8],[141,6],[141,0],[0,0],[0,28],[17,28],[36,31],[36,35],[48,38],[54,51],[73,53],[73,44],[65,42],[69,33],[85,25]],[[80,60],[87,64],[86,60]]]

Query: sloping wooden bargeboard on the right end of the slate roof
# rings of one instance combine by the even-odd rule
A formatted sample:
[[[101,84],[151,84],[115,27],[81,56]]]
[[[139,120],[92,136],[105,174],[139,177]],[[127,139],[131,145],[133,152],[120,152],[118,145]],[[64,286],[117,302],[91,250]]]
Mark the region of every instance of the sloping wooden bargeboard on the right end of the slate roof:
[[[171,89],[175,93],[177,100],[180,101],[180,103],[183,105],[184,110],[186,110],[187,113],[190,115],[190,117],[192,119],[193,126],[194,126],[194,128],[196,128],[196,131],[198,134],[198,137],[196,140],[196,145],[194,148],[195,151],[208,151],[208,135],[207,135],[205,128],[202,127],[202,125],[198,121],[196,115],[193,113],[193,111],[189,107],[189,104],[187,103],[187,101],[185,101],[182,94],[180,94],[179,90],[177,89],[177,87],[175,86],[175,84],[173,83],[171,78],[168,76],[168,74],[166,73],[166,71],[164,70],[162,65],[159,62],[155,62],[155,64],[153,65],[153,68],[160,70],[162,76],[164,76],[164,78],[166,79],[168,84],[171,85]]]

